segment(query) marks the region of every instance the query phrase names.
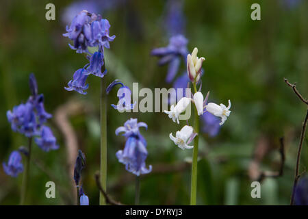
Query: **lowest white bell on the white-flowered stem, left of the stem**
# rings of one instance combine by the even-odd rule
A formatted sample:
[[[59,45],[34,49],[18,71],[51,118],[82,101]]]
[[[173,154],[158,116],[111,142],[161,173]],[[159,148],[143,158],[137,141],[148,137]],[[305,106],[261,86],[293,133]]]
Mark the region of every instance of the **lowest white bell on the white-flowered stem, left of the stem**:
[[[175,142],[180,149],[192,149],[194,146],[190,146],[190,142],[194,139],[196,133],[194,133],[194,129],[191,126],[185,125],[181,131],[177,131],[175,137],[170,133],[170,139]]]

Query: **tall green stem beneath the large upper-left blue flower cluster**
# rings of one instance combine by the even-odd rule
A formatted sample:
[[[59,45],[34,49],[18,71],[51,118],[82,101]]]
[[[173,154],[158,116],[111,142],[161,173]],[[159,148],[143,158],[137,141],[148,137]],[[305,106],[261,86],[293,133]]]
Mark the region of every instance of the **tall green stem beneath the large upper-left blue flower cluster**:
[[[105,65],[102,72],[105,71]],[[101,79],[101,186],[107,192],[107,94],[105,78]],[[106,205],[103,193],[99,194],[99,205]]]

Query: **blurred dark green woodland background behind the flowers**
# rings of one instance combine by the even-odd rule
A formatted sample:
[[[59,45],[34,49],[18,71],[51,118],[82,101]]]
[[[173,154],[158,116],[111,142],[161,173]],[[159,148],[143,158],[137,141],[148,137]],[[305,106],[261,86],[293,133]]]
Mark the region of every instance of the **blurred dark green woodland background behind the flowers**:
[[[76,2],[76,1],[75,1]],[[85,1],[87,2],[87,1]],[[110,21],[110,34],[116,35],[106,51],[105,77],[108,83],[120,79],[131,87],[170,88],[165,82],[167,67],[157,66],[150,52],[165,47],[168,36],[162,28],[166,2],[99,1],[96,8]],[[112,3],[115,5],[112,5]],[[203,133],[198,163],[199,205],[287,205],[290,203],[296,152],[306,107],[283,81],[298,82],[308,96],[308,1],[191,0],[183,2],[185,37],[191,52],[198,47],[206,57],[203,64],[203,93],[211,100],[227,103],[231,116],[215,138]],[[45,19],[45,5],[54,3],[55,21]],[[29,73],[35,73],[45,108],[53,114],[49,125],[60,149],[44,153],[34,146],[27,204],[70,205],[74,203],[72,175],[69,172],[66,136],[57,122],[64,115],[77,137],[76,149],[87,159],[82,183],[90,205],[98,205],[99,192],[94,173],[99,170],[99,91],[100,81],[89,77],[86,96],[64,90],[78,68],[88,61],[68,47],[65,13],[73,1],[4,0],[0,2],[0,160],[7,162],[12,150],[27,140],[10,129],[6,111],[27,101]],[[109,6],[105,6],[108,5]],[[261,5],[261,21],[251,20],[251,4]],[[185,64],[182,63],[182,70]],[[109,95],[117,103],[116,91]],[[65,117],[66,115],[66,117]],[[119,114],[108,106],[108,192],[125,204],[134,201],[134,177],[118,163],[115,153],[125,139],[114,131],[129,118],[138,118],[149,129],[142,130],[148,142],[146,164],[153,172],[141,181],[142,205],[187,205],[190,199],[192,150],[182,151],[169,139],[181,126],[164,113]],[[64,121],[62,117],[58,118]],[[285,137],[286,162],[282,177],[261,183],[261,198],[251,198],[248,174],[254,159],[261,170],[278,170],[279,138]],[[75,158],[74,158],[75,159]],[[300,170],[308,164],[304,142]],[[17,205],[22,175],[16,179],[0,168],[0,204]],[[45,183],[54,181],[56,198],[46,198]]]

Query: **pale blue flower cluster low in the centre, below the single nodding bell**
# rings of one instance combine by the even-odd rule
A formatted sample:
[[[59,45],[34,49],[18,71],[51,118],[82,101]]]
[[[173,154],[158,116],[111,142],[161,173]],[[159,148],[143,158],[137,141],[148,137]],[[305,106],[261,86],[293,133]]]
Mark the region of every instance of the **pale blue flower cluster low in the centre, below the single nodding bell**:
[[[127,120],[123,127],[116,129],[116,135],[123,132],[126,138],[125,147],[116,153],[118,161],[125,164],[127,171],[134,175],[147,174],[152,171],[152,166],[146,168],[145,160],[148,155],[146,151],[146,140],[141,135],[139,128],[145,127],[146,123],[138,123],[136,118]]]

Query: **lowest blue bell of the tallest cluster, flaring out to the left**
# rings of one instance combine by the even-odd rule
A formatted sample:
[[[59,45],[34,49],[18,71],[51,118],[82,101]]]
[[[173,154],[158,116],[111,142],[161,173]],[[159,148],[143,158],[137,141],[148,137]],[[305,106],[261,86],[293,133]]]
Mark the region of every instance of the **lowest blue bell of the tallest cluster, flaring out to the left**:
[[[86,79],[88,75],[86,75],[86,70],[84,68],[79,68],[75,71],[73,75],[73,80],[68,82],[68,88],[64,88],[65,90],[72,91],[75,90],[79,92],[79,94],[87,94],[84,90],[87,90],[89,85],[86,84]]]

